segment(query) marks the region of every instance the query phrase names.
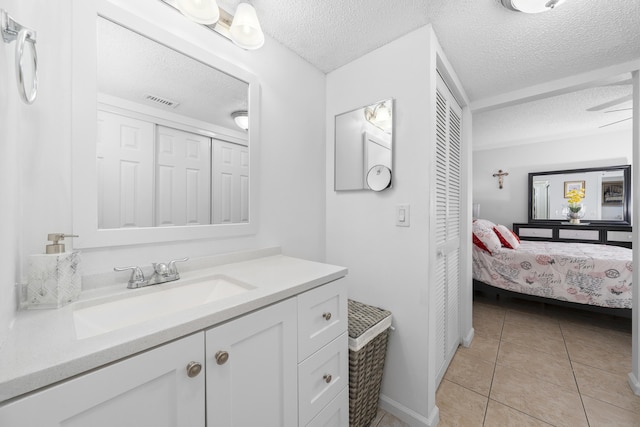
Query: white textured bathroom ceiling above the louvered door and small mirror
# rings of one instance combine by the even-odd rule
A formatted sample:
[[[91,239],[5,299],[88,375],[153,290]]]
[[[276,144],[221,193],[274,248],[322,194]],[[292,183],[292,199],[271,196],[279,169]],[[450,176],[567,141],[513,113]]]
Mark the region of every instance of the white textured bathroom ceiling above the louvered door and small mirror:
[[[233,11],[239,0],[219,0]],[[640,58],[640,0],[251,0],[265,33],[329,72],[428,23],[472,101]]]

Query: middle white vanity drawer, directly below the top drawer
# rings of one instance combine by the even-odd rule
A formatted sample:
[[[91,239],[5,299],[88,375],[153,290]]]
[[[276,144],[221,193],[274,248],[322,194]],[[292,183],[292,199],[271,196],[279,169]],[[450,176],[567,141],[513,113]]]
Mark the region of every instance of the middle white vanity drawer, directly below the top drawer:
[[[298,366],[298,425],[307,425],[348,385],[348,352],[344,332]]]

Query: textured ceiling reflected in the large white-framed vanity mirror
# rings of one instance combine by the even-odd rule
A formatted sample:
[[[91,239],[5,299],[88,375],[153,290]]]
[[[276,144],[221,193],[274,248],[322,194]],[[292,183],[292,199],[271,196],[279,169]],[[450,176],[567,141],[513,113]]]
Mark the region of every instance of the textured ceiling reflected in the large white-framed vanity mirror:
[[[98,19],[98,91],[228,129],[248,85],[106,19]],[[147,95],[178,103],[151,103]]]

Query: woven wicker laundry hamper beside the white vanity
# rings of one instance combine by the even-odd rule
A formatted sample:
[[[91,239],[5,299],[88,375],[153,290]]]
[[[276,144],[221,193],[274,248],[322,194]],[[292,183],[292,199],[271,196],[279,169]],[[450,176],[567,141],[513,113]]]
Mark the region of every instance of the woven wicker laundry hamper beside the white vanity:
[[[349,425],[376,417],[391,312],[349,300]]]

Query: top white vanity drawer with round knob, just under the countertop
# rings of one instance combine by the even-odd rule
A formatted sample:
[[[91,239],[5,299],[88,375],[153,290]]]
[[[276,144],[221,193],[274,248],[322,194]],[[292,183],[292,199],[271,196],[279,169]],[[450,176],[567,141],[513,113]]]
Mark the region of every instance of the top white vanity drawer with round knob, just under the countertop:
[[[298,296],[298,361],[347,330],[347,289],[337,280]]]

